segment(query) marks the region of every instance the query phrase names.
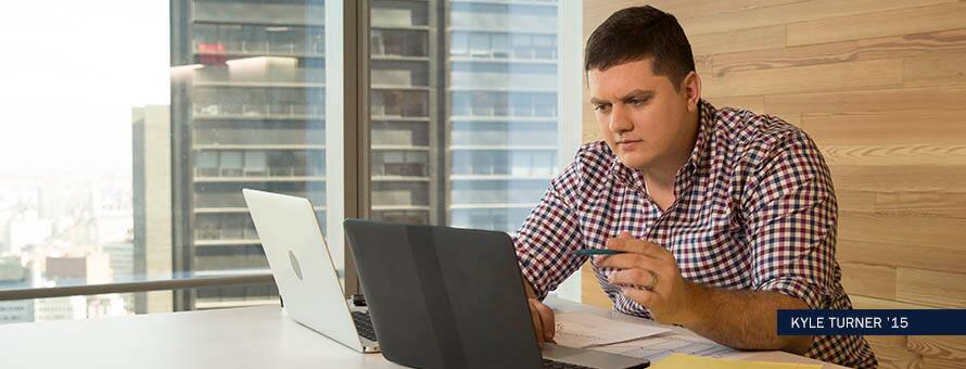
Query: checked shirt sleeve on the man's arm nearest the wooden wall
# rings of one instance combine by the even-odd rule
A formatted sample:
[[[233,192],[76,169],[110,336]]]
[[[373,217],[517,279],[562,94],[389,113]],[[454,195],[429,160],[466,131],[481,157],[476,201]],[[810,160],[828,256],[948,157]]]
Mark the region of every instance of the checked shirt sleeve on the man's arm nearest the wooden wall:
[[[765,154],[745,203],[752,247],[752,288],[827,307],[835,291],[837,204],[815,143],[792,135]]]

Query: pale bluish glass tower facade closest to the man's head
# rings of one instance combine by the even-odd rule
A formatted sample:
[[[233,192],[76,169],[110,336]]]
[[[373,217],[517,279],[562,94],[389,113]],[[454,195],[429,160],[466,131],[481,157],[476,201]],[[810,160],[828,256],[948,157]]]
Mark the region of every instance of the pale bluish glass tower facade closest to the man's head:
[[[512,232],[558,171],[557,3],[448,9],[448,222]]]

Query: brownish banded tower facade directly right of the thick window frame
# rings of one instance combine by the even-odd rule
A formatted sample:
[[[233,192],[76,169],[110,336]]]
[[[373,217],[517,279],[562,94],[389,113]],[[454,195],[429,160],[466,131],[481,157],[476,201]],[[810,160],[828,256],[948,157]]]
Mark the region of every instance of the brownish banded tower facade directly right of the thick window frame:
[[[371,216],[445,222],[437,1],[373,1],[370,13]]]

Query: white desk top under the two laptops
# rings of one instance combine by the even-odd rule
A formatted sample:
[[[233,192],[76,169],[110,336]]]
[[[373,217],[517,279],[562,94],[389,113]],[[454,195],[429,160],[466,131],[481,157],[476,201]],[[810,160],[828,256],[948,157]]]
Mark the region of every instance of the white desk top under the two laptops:
[[[277,306],[0,326],[0,347],[3,368],[401,368],[319,335]],[[751,359],[817,362],[775,352]]]

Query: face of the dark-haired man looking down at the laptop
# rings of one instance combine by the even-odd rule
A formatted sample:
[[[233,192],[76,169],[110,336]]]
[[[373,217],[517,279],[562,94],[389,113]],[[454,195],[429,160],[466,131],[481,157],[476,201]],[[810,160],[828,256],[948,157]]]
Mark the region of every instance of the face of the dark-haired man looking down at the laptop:
[[[647,170],[690,147],[688,89],[654,75],[650,58],[588,71],[587,82],[603,140],[624,166]]]

